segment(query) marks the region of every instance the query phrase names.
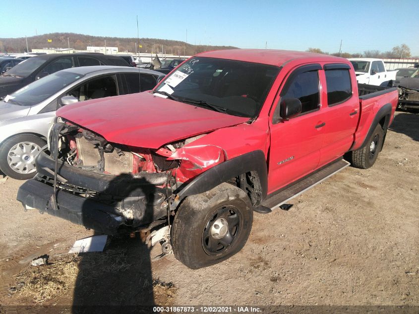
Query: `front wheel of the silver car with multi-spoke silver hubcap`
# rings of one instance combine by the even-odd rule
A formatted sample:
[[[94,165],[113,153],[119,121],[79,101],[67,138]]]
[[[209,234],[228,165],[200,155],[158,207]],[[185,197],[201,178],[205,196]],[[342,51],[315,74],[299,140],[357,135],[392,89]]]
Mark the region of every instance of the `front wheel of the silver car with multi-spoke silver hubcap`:
[[[19,134],[0,146],[0,170],[17,180],[31,179],[36,174],[35,157],[46,142],[33,134]]]

